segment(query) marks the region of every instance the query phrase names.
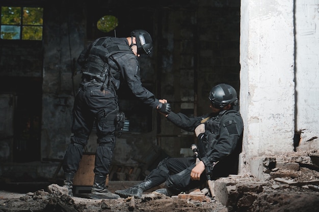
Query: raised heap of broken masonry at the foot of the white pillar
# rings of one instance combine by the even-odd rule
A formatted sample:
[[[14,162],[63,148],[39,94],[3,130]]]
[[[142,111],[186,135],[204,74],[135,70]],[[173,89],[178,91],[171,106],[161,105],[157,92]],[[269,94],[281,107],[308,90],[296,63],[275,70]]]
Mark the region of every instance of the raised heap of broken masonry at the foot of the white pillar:
[[[255,176],[214,181],[217,200],[235,211],[319,211],[319,154],[256,158]],[[258,177],[256,177],[258,176]]]

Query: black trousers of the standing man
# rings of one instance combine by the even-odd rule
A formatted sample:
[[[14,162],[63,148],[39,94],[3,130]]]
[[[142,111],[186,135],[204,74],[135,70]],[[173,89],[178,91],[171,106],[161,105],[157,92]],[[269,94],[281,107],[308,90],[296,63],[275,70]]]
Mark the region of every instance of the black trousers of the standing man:
[[[118,101],[115,90],[91,82],[80,84],[72,111],[73,123],[71,143],[63,161],[65,173],[75,173],[88,143],[93,125],[96,123],[96,135],[99,146],[95,154],[94,173],[99,176],[109,174],[115,138],[115,116],[118,113]]]

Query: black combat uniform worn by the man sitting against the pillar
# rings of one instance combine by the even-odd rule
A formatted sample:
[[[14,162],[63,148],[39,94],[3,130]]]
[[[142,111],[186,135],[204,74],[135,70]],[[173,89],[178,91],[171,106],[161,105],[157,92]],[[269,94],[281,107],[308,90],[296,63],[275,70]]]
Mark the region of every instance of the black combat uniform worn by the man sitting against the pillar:
[[[191,179],[191,171],[196,166],[196,160],[188,157],[164,159],[145,181],[154,182],[152,187],[166,181],[169,194],[176,195],[203,185],[208,174],[208,177],[215,178],[237,173],[244,128],[242,117],[237,110],[223,110],[216,116],[210,115],[189,118],[182,113],[170,112],[167,116],[170,122],[190,132],[209,117],[205,122],[205,133],[198,135],[200,160],[206,167],[201,179]]]

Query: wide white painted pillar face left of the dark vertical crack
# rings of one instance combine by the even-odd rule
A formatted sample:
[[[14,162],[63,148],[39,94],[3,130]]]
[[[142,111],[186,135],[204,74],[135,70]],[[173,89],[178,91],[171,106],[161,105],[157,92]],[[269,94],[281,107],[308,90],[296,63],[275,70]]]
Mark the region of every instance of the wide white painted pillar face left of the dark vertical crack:
[[[242,173],[251,158],[293,152],[293,9],[293,0],[241,1]]]

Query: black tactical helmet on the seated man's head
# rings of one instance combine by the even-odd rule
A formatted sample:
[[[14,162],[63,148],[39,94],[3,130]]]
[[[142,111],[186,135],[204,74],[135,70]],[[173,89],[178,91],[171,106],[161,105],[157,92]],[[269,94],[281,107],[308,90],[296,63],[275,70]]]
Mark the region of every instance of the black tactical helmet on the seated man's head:
[[[238,102],[236,90],[228,84],[218,84],[211,88],[208,99],[215,108],[226,105],[236,105]]]

